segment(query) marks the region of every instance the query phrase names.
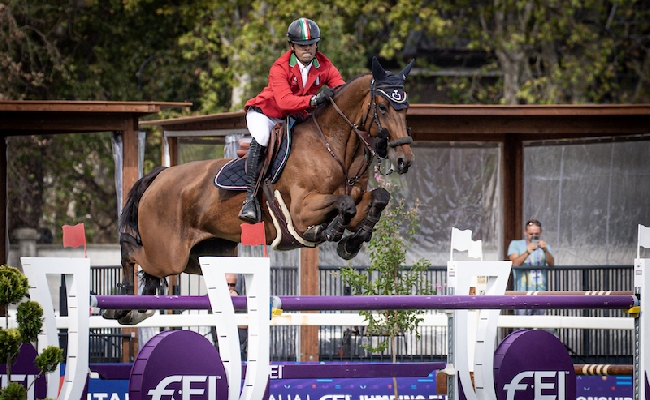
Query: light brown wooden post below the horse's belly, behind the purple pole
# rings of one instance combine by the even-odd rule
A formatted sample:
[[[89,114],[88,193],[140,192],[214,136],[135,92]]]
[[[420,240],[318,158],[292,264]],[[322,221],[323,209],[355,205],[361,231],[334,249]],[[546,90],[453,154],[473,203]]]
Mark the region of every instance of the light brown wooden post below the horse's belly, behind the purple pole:
[[[318,249],[300,249],[300,295],[318,295]],[[300,327],[300,361],[319,361],[318,327]]]

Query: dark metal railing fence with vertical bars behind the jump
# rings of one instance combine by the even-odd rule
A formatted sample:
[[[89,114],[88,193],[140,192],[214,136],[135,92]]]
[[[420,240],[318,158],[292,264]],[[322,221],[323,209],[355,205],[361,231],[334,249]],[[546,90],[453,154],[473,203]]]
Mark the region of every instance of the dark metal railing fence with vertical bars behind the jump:
[[[365,269],[364,267],[357,267]],[[536,267],[535,269],[539,269]],[[548,290],[628,290],[633,289],[633,267],[631,265],[608,266],[556,266],[545,269]],[[322,266],[319,271],[319,294],[322,296],[349,295],[350,288],[344,284],[339,267]],[[446,288],[446,267],[432,266],[426,279],[435,288]],[[97,294],[114,294],[120,281],[119,267],[93,267],[92,290]],[[181,276],[179,287],[170,288],[174,293],[197,294],[197,280]],[[183,287],[180,287],[183,286]],[[271,294],[291,296],[299,293],[299,272],[297,267],[271,268]],[[241,293],[245,294],[245,293]],[[330,311],[332,312],[332,311]],[[433,313],[433,311],[428,311]],[[504,311],[506,312],[506,311]],[[335,312],[332,312],[335,313]],[[622,317],[621,310],[549,310],[548,314],[581,317]],[[110,332],[109,332],[110,331]],[[121,354],[122,335],[116,330],[93,330],[91,354],[96,361],[115,360]],[[446,327],[419,327],[417,333],[404,333],[397,338],[399,361],[444,361],[446,359]],[[511,330],[500,329],[499,341]],[[575,363],[631,364],[634,340],[632,331],[557,329],[554,333],[564,343]],[[115,338],[115,339],[113,339]],[[390,361],[388,352],[370,352],[368,345],[376,346],[384,337],[369,337],[361,326],[319,327],[320,361]],[[95,343],[97,342],[97,343]],[[130,342],[126,342],[130,343]],[[296,361],[299,357],[300,327],[271,327],[271,360]],[[130,344],[132,346],[132,342]],[[125,349],[127,350],[127,349]],[[128,350],[127,350],[128,351]]]

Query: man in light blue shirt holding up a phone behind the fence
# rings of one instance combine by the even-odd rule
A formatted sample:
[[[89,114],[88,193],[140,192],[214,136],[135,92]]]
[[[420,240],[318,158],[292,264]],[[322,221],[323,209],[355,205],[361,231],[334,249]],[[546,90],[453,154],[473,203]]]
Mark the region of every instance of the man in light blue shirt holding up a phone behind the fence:
[[[542,223],[536,219],[526,222],[524,228],[524,239],[513,240],[508,246],[508,257],[512,261],[513,267],[518,266],[553,266],[555,259],[551,252],[551,247],[541,240]],[[514,290],[517,291],[545,291],[546,290],[546,271],[530,269],[513,269]],[[528,311],[524,314],[543,315],[544,310],[522,310]]]

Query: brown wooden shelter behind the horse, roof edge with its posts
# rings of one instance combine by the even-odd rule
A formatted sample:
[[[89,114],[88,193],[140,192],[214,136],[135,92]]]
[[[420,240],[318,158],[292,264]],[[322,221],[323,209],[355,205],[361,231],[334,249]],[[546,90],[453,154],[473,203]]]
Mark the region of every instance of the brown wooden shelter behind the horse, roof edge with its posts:
[[[650,133],[650,104],[619,105],[438,105],[412,104],[407,112],[415,142],[496,142],[501,151],[502,248],[523,229],[524,142],[616,138]],[[246,132],[244,112],[147,121],[165,132],[177,163],[177,138]],[[650,140],[645,136],[644,140]],[[417,160],[416,160],[417,162]],[[504,250],[505,251],[505,250]],[[500,258],[505,259],[505,254]],[[318,294],[318,250],[302,249],[301,295]],[[318,361],[318,331],[302,327],[301,361]]]

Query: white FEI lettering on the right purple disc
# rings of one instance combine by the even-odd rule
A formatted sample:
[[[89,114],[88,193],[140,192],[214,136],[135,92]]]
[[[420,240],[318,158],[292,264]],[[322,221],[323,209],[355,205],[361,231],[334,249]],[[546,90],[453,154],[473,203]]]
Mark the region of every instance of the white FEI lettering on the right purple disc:
[[[514,400],[518,390],[527,390],[531,386],[536,400],[566,400],[565,371],[520,372],[503,386],[503,390],[507,400]]]

